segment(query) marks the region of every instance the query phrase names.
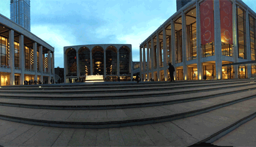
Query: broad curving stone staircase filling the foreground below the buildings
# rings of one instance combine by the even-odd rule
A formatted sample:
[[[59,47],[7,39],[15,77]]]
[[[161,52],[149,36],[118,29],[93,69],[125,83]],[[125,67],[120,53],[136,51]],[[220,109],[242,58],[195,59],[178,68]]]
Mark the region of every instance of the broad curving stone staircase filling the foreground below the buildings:
[[[189,146],[212,143],[255,117],[256,79],[14,86],[1,87],[0,98],[0,119],[17,125],[90,130],[96,131],[97,137],[102,130],[119,130],[124,137],[122,130],[132,128],[137,144],[128,144],[125,138],[121,138],[124,144],[106,142],[117,146]],[[176,136],[170,137],[169,132]],[[150,139],[145,141],[144,135]],[[15,139],[0,133],[3,146],[37,145],[13,144]],[[62,145],[56,144],[58,139],[51,145]],[[90,145],[90,140],[85,144]]]

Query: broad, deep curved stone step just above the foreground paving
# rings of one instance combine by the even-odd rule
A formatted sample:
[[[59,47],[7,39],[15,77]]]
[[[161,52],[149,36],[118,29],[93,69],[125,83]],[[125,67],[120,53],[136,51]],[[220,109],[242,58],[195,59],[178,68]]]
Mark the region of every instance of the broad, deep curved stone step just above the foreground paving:
[[[173,105],[115,110],[42,110],[0,107],[0,119],[68,128],[113,128],[161,123],[190,117],[221,107],[256,101],[256,90]],[[256,111],[256,108],[254,108]]]

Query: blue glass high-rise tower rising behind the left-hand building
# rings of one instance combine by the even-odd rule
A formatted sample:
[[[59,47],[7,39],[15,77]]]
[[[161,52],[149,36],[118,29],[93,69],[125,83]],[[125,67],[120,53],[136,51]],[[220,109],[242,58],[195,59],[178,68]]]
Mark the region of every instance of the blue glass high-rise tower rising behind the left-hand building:
[[[30,31],[30,0],[11,0],[10,20]]]

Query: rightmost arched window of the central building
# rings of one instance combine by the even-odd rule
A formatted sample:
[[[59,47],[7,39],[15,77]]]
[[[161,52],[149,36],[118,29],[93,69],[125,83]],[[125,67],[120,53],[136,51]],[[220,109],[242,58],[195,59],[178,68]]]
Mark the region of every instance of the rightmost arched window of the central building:
[[[130,74],[130,55],[125,47],[119,49],[120,75]]]

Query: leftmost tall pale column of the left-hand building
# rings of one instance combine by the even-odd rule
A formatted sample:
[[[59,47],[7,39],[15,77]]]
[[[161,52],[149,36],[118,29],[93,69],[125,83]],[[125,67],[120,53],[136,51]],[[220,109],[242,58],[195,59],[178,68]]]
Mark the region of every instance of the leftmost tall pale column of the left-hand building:
[[[14,59],[14,31],[9,30],[9,66],[10,66],[10,81],[8,84],[15,85],[15,59]]]

